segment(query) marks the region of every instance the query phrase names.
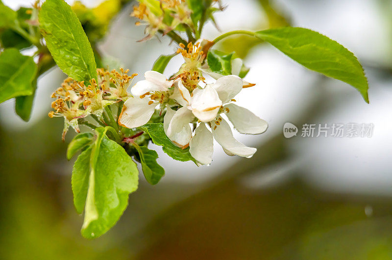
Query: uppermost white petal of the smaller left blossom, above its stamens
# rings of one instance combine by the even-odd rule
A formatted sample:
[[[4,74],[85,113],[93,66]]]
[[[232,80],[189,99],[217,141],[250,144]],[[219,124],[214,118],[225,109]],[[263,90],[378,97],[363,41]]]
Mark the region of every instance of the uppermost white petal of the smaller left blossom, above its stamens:
[[[168,91],[173,84],[172,80],[167,80],[165,75],[156,71],[147,71],[145,80],[137,82],[132,88],[131,93],[134,96],[141,96],[149,91]]]

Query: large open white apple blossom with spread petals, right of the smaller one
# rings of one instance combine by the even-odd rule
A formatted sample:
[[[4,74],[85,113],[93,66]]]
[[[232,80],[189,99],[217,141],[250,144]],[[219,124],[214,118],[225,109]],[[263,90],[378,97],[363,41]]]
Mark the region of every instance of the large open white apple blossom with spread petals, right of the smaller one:
[[[184,143],[189,141],[190,153],[199,164],[211,162],[213,137],[227,155],[253,156],[256,148],[247,147],[234,139],[230,126],[221,117],[221,113],[226,113],[234,128],[241,133],[259,134],[267,130],[266,121],[249,110],[230,103],[243,88],[241,78],[234,75],[223,76],[214,84],[207,84],[202,89],[196,88],[192,97],[181,85],[179,81],[178,93],[172,95],[172,98],[182,107],[175,112],[168,107],[169,115],[165,120],[165,132],[172,141],[178,143],[178,140],[181,140],[182,147],[186,147]],[[200,124],[192,137],[189,123],[195,122],[195,117]],[[206,124],[212,132],[207,129]]]

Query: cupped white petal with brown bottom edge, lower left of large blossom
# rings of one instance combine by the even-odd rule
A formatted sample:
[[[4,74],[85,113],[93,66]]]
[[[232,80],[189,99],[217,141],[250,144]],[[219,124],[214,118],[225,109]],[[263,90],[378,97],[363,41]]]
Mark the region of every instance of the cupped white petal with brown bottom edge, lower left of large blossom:
[[[168,107],[166,111],[164,117],[164,130],[173,143],[185,148],[192,138],[192,130],[189,123],[194,116],[186,107],[181,107],[177,111],[171,110],[172,109]],[[168,121],[170,122],[168,123]]]

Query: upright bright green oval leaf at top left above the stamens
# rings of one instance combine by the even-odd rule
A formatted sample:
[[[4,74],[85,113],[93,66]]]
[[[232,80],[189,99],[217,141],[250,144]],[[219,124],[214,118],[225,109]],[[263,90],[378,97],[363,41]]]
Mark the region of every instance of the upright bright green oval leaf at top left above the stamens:
[[[82,25],[64,0],[47,0],[39,13],[41,33],[60,69],[88,82],[97,78],[93,49]]]

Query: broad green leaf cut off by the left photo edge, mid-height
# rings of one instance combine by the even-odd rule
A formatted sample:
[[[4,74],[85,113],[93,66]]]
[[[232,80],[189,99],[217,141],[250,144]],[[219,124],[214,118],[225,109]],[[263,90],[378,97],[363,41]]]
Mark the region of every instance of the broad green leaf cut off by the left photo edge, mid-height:
[[[0,54],[0,103],[18,96],[33,94],[32,81],[37,64],[17,49],[5,49]]]

